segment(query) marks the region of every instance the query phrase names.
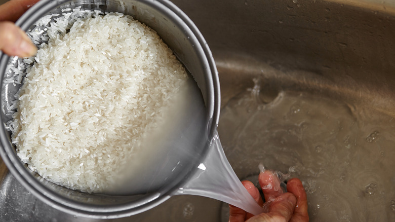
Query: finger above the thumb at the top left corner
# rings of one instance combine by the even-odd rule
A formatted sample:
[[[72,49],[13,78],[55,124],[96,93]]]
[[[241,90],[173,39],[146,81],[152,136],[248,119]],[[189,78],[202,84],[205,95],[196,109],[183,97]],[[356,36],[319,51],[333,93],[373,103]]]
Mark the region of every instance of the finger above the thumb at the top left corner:
[[[0,7],[0,21],[15,22],[36,2],[38,0],[11,0],[6,2]]]

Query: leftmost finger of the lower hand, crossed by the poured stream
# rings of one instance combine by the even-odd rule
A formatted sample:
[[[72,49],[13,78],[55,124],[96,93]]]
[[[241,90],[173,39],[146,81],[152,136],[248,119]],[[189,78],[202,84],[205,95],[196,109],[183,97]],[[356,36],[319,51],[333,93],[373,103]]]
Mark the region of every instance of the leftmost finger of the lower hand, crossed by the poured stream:
[[[258,189],[254,186],[254,184],[248,180],[242,181],[243,186],[247,189],[248,193],[255,199],[255,201],[262,206],[263,205],[263,200],[261,195],[259,194]],[[246,219],[252,217],[253,215],[250,213],[247,213],[246,211],[229,205],[229,222],[239,222],[239,221],[245,221]]]

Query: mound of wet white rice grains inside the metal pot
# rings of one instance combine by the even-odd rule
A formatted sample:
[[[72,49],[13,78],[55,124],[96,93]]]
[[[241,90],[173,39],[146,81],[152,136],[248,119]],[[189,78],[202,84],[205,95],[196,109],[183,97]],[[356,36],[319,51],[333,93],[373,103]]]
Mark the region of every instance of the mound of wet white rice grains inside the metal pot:
[[[101,192],[133,161],[186,71],[153,30],[123,14],[77,18],[67,33],[55,24],[24,79],[9,129],[18,157],[39,175]]]

